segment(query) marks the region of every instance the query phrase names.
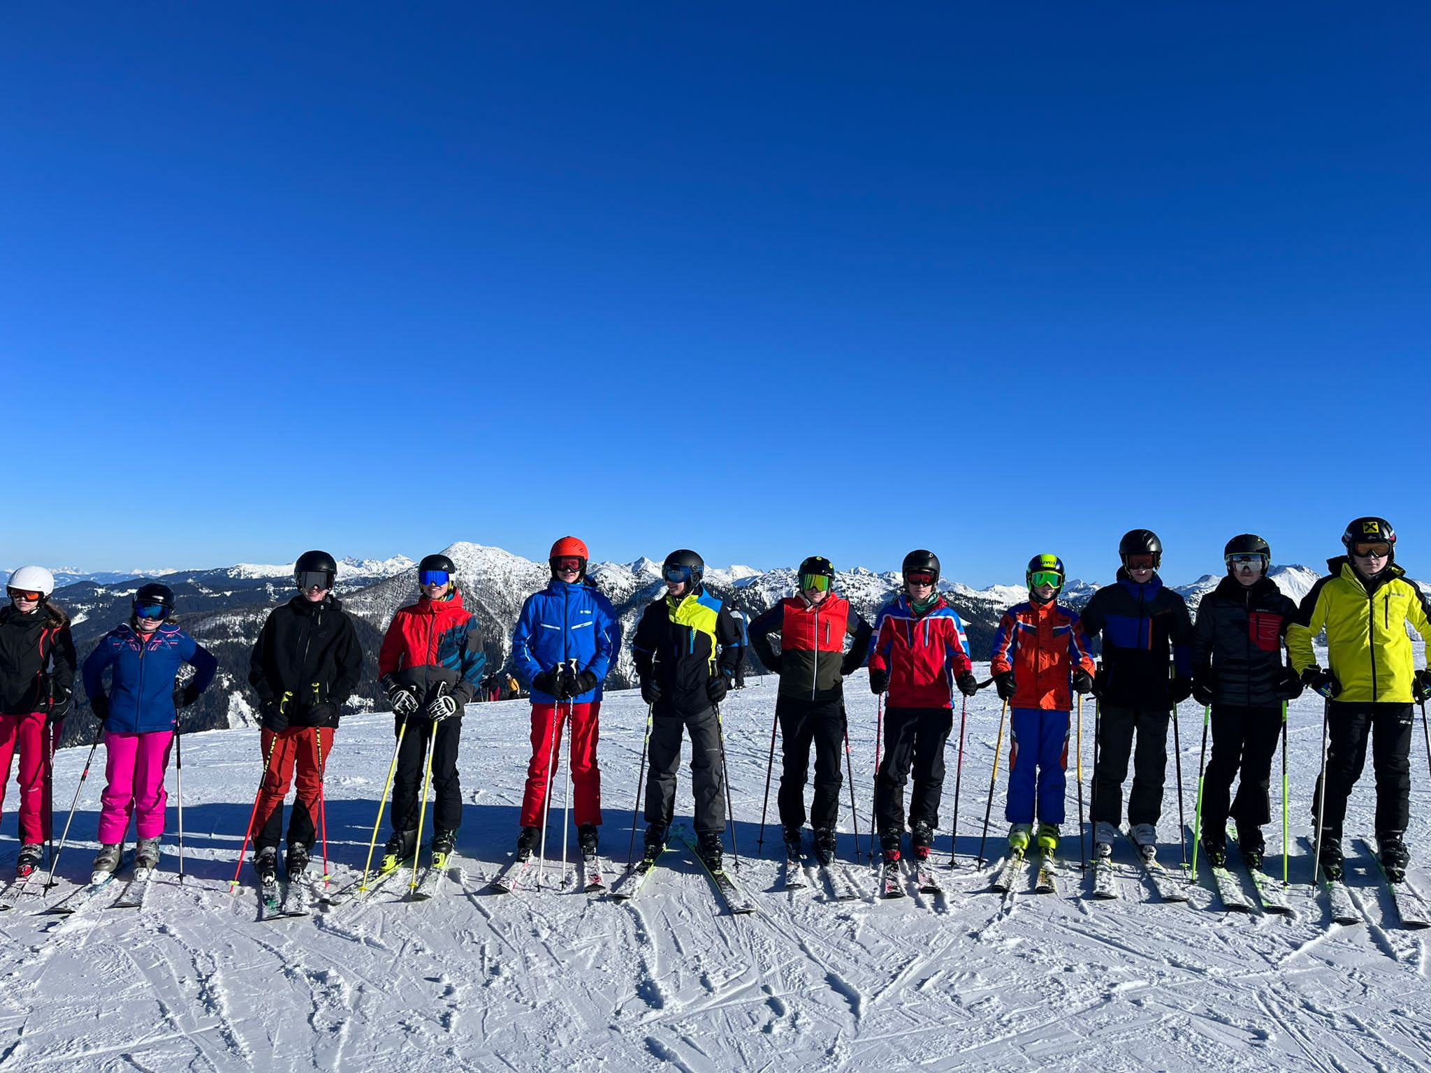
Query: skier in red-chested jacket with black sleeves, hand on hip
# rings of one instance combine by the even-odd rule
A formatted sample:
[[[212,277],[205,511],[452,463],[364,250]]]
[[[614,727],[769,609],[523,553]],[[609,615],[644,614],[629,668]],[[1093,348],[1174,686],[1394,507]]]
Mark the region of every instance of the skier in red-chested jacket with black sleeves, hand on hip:
[[[770,645],[778,634],[780,651]],[[750,624],[750,647],[780,675],[776,720],[780,724],[780,825],[786,853],[798,860],[806,821],[804,785],[814,744],[814,800],[810,825],[814,853],[834,860],[840,811],[840,748],[846,741],[844,677],[864,665],[873,629],[850,601],[834,591],[834,567],[821,555],[800,564],[797,589]],[[846,638],[853,638],[844,651]]]

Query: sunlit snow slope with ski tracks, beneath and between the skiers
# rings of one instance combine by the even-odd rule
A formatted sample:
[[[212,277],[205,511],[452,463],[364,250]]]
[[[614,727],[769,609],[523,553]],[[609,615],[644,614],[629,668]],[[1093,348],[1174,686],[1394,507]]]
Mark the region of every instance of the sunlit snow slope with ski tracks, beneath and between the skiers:
[[[940,871],[944,896],[879,900],[863,861],[850,866],[857,901],[834,901],[813,870],[810,886],[786,891],[778,847],[750,856],[773,687],[774,680],[753,678],[723,708],[746,850],[734,874],[758,903],[747,917],[728,913],[678,841],[634,901],[587,896],[574,884],[558,890],[552,866],[541,891],[532,883],[515,894],[488,893],[487,881],[515,840],[527,764],[527,705],[502,702],[474,707],[465,720],[459,867],[435,897],[405,903],[406,883],[395,881],[363,901],[259,921],[252,876],[243,876],[236,894],[228,887],[242,841],[235,828],[248,817],[260,765],[253,733],[193,735],[185,758],[200,777],[185,785],[183,884],[173,874],[170,836],[142,910],[112,910],[113,894],[104,893],[74,916],[41,916],[37,910],[84,881],[94,844],[80,840],[62,860],[62,886],[46,897],[27,894],[0,914],[7,940],[0,1070],[1003,1073],[1096,1064],[1369,1073],[1431,1066],[1431,931],[1401,929],[1375,864],[1351,850],[1351,838],[1348,883],[1367,917],[1361,926],[1329,921],[1305,886],[1301,856],[1292,861],[1294,881],[1304,886],[1292,893],[1291,918],[1224,913],[1206,876],[1191,903],[1162,903],[1126,843],[1115,850],[1122,898],[1095,901],[1072,836],[1060,894],[1033,894],[1026,876],[1007,897],[990,891],[1005,825],[990,825],[985,870],[973,868],[973,851],[987,781],[976,787],[992,763],[999,715],[992,692],[969,710],[959,867]],[[874,724],[863,675],[850,681],[849,710],[863,853]],[[611,694],[601,714],[604,850],[620,874],[645,708],[634,694]],[[1191,783],[1199,743],[1191,710],[1182,720]],[[339,731],[328,798],[335,884],[353,876],[366,854],[391,725],[386,715],[352,717]],[[1319,702],[1298,701],[1294,838],[1309,825],[1299,795],[1311,788],[1319,734]],[[1090,727],[1085,748],[1088,773]],[[83,751],[59,757],[59,791],[74,785]],[[946,821],[953,761],[950,745]],[[1168,767],[1161,857],[1176,877],[1178,803]],[[683,767],[678,817],[690,814],[688,780]],[[1410,841],[1431,848],[1431,793],[1424,778],[1414,780]],[[74,821],[86,837],[94,831],[100,781],[92,773]],[[1348,831],[1369,830],[1371,785],[1368,773],[1352,795]],[[560,800],[558,788],[548,836],[557,853]],[[1072,831],[1072,785],[1068,800]],[[847,801],[841,833],[851,830]],[[1185,804],[1191,823],[1191,793]],[[774,800],[770,813],[773,818]],[[170,811],[170,827],[173,821]],[[767,827],[767,843],[770,834]],[[1279,824],[1268,836],[1279,874]],[[843,834],[846,860],[851,846]],[[949,850],[949,833],[940,831],[940,867]],[[1246,877],[1234,871],[1251,894]],[[577,870],[568,867],[568,874],[574,880]],[[1420,878],[1425,884],[1424,870]]]

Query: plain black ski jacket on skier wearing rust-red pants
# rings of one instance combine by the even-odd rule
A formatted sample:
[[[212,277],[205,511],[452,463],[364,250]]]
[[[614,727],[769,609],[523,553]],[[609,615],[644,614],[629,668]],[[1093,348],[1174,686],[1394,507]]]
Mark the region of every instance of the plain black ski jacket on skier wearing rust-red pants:
[[[362,647],[336,597],[311,604],[302,594],[269,612],[249,657],[249,684],[263,725],[336,727],[362,675]]]

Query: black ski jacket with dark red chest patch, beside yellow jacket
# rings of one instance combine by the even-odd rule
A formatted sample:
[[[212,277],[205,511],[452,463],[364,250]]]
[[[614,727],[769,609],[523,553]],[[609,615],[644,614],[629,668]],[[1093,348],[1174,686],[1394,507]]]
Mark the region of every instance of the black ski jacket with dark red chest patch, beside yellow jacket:
[[[1212,687],[1213,704],[1275,708],[1302,692],[1282,662],[1296,604],[1269,578],[1244,587],[1224,578],[1198,605],[1192,677]]]

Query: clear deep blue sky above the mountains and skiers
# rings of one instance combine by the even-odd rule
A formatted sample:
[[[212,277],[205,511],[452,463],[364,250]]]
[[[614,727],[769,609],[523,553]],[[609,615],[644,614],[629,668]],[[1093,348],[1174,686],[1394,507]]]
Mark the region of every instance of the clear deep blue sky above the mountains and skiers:
[[[0,565],[1012,581],[1388,515],[1431,575],[1418,4],[10,4]]]

